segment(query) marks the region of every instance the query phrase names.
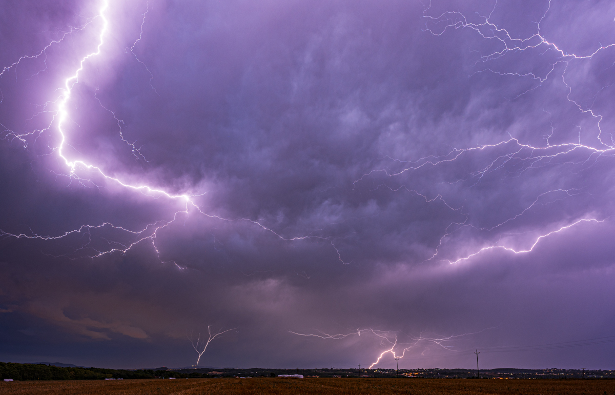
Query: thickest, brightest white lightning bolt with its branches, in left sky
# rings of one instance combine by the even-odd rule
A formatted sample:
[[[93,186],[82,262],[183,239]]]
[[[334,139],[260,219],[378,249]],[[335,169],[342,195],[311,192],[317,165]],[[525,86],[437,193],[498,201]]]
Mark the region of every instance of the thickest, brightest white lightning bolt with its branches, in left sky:
[[[42,130],[34,130],[33,132],[27,132],[25,134],[18,134],[15,132],[12,132],[12,130],[7,129],[6,127],[4,127],[4,132],[6,133],[6,135],[3,138],[7,138],[8,136],[11,136],[12,139],[17,139],[20,140],[20,142],[22,142],[22,145],[24,146],[24,148],[26,148],[28,146],[28,140],[26,140],[27,137],[34,135],[34,134],[42,134],[44,132],[52,131],[55,130],[57,132],[57,134],[60,137],[60,142],[58,144],[58,146],[55,147],[50,147],[50,150],[52,153],[57,153],[58,158],[62,159],[62,162],[65,164],[65,166],[68,168],[68,174],[66,174],[66,176],[70,179],[70,180],[76,180],[77,182],[81,183],[82,185],[85,184],[90,184],[90,185],[94,185],[98,188],[100,188],[100,186],[96,185],[92,180],[84,178],[82,175],[79,175],[79,170],[86,170],[89,172],[96,172],[97,174],[100,174],[103,178],[105,178],[105,180],[107,182],[111,182],[111,183],[116,183],[117,185],[123,187],[123,188],[128,188],[129,190],[133,190],[133,191],[137,191],[141,194],[145,194],[146,196],[151,196],[153,198],[159,198],[161,196],[164,196],[165,198],[169,198],[172,199],[173,201],[177,201],[180,205],[183,206],[183,209],[178,210],[177,212],[175,212],[175,215],[173,216],[172,219],[170,220],[158,220],[155,223],[150,223],[148,225],[145,226],[145,228],[140,229],[140,230],[131,230],[131,229],[126,229],[123,228],[121,226],[115,226],[112,223],[109,222],[103,222],[100,223],[99,225],[83,225],[78,229],[73,229],[71,231],[67,231],[64,234],[60,234],[58,236],[41,236],[38,234],[32,234],[32,235],[26,235],[23,233],[10,233],[10,232],[6,232],[3,231],[2,229],[0,229],[0,236],[4,236],[4,237],[17,237],[17,238],[29,238],[29,239],[41,239],[41,240],[55,240],[55,239],[62,239],[63,237],[66,236],[70,236],[72,234],[81,234],[82,232],[84,232],[85,235],[87,235],[88,237],[88,241],[90,241],[90,231],[92,229],[99,229],[99,228],[113,228],[113,229],[119,229],[121,231],[125,231],[126,233],[135,236],[136,239],[133,242],[130,242],[128,244],[123,244],[121,242],[116,242],[116,241],[109,241],[109,245],[111,246],[109,249],[107,250],[97,250],[97,249],[93,249],[93,247],[90,245],[90,242],[87,242],[85,244],[83,244],[81,246],[81,248],[79,250],[85,250],[85,248],[89,248],[89,249],[93,249],[93,253],[90,254],[91,258],[95,258],[95,257],[100,257],[101,255],[106,255],[108,253],[113,253],[113,252],[122,252],[125,253],[128,250],[130,250],[134,245],[139,244],[142,241],[146,241],[149,240],[151,242],[151,244],[153,245],[153,248],[157,254],[157,256],[160,257],[160,251],[158,249],[158,247],[156,246],[156,233],[157,231],[159,231],[162,228],[165,228],[167,226],[170,225],[170,223],[172,223],[173,221],[177,220],[177,215],[179,213],[186,213],[188,214],[188,210],[189,207],[192,207],[194,209],[196,209],[198,212],[202,213],[203,215],[209,217],[209,218],[218,218],[220,220],[224,220],[224,221],[237,221],[237,220],[228,220],[226,218],[222,218],[219,217],[218,215],[210,215],[208,213],[206,213],[204,210],[201,209],[201,207],[199,207],[199,205],[196,204],[196,202],[194,201],[193,198],[199,197],[199,196],[203,196],[204,193],[200,193],[200,194],[175,194],[175,193],[170,193],[169,191],[165,191],[162,188],[159,187],[154,187],[154,186],[150,186],[147,185],[145,183],[141,183],[141,184],[133,184],[133,183],[128,183],[128,182],[124,182],[122,181],[120,178],[117,177],[113,177],[111,175],[108,175],[105,173],[105,171],[95,165],[92,164],[90,162],[87,162],[85,159],[81,159],[81,160],[77,160],[77,159],[71,159],[69,158],[68,154],[66,154],[66,146],[69,145],[68,143],[68,135],[67,135],[67,131],[66,131],[66,124],[69,122],[70,120],[70,114],[69,114],[69,110],[68,110],[68,102],[71,100],[71,97],[73,96],[73,89],[76,86],[76,84],[79,83],[79,75],[84,71],[84,66],[85,63],[93,57],[96,57],[98,55],[100,55],[101,53],[101,47],[103,47],[103,45],[105,45],[105,37],[106,34],[108,33],[109,30],[109,20],[107,17],[107,13],[109,11],[109,0],[105,0],[102,1],[100,3],[100,6],[98,7],[98,14],[95,15],[94,17],[88,18],[87,22],[85,23],[84,26],[81,26],[79,28],[71,28],[70,31],[64,33],[62,35],[62,37],[60,39],[51,41],[46,47],[44,47],[41,51],[39,51],[37,54],[35,55],[24,55],[22,57],[20,57],[16,62],[12,63],[12,65],[10,66],[6,66],[2,69],[2,71],[0,71],[0,77],[2,76],[2,74],[6,73],[6,71],[10,70],[11,68],[17,68],[17,66],[20,64],[20,62],[28,60],[28,59],[33,59],[33,58],[38,58],[41,55],[46,54],[46,50],[49,49],[50,46],[54,45],[54,44],[59,44],[60,42],[62,42],[69,34],[74,33],[75,31],[82,31],[85,28],[87,28],[89,25],[92,25],[93,22],[100,20],[100,31],[97,34],[97,42],[95,43],[95,47],[92,50],[92,52],[89,52],[88,54],[84,55],[81,60],[79,61],[78,67],[76,68],[76,70],[73,71],[73,73],[71,73],[71,75],[69,75],[68,77],[66,77],[64,79],[63,82],[63,87],[58,88],[60,95],[55,98],[55,100],[50,100],[47,103],[45,103],[43,105],[43,110],[39,113],[34,114],[34,116],[37,116],[38,114],[41,114],[42,112],[46,112],[46,113],[51,113],[53,114],[52,120],[50,121],[49,125],[47,127],[45,127]],[[135,42],[133,42],[132,47],[127,48],[126,51],[130,52],[131,54],[134,55],[135,59],[141,63],[143,66],[145,66],[146,71],[148,71],[149,73],[149,84],[151,86],[151,88],[154,90],[154,92],[156,92],[156,89],[154,88],[154,86],[151,84],[151,81],[153,80],[153,74],[151,74],[151,71],[149,71],[149,68],[145,65],[145,63],[143,63],[143,61],[141,61],[138,57],[137,54],[135,54],[134,49],[135,46],[137,46],[137,43],[141,40],[141,38],[143,37],[143,25],[145,25],[145,20],[146,20],[146,15],[149,12],[149,1],[146,2],[146,10],[145,12],[142,14],[142,20],[141,20],[141,30],[139,33],[138,38],[135,40]],[[97,88],[98,91],[98,88]],[[158,92],[156,92],[156,94],[158,94]],[[103,105],[103,103],[101,103],[100,99],[97,97],[96,93],[94,94],[95,99],[98,101],[98,103],[100,104],[101,108],[105,109],[106,111],[108,111],[109,113],[111,113],[111,115],[113,116],[114,120],[117,122],[117,126],[119,127],[119,134],[121,137],[122,142],[126,143],[131,151],[133,156],[135,156],[135,158],[138,159],[143,159],[146,161],[145,156],[143,156],[143,154],[141,154],[140,148],[137,148],[137,146],[135,146],[135,143],[130,143],[129,141],[125,140],[124,134],[122,132],[122,123],[123,121],[121,119],[118,119],[116,117],[116,114],[114,113],[114,111],[109,110],[109,108],[107,108],[106,106]],[[55,110],[50,109],[51,106],[55,105]],[[33,117],[34,117],[33,116]],[[55,129],[54,129],[54,125],[55,125]],[[2,124],[0,124],[0,126],[2,126]],[[298,240],[302,240],[302,239],[320,239],[322,241],[328,241],[331,246],[333,247],[333,249],[335,250],[335,252],[338,255],[339,261],[343,264],[346,264],[346,262],[343,261],[341,254],[338,250],[338,248],[335,246],[335,244],[333,243],[333,240],[331,237],[320,237],[320,236],[302,236],[302,237],[283,237],[280,236],[280,234],[276,233],[275,231],[273,231],[272,229],[267,228],[266,226],[262,225],[260,222],[258,221],[254,221],[254,220],[250,220],[248,218],[239,218],[239,221],[249,221],[250,223],[253,223],[255,225],[260,226],[260,228],[263,228],[266,231],[269,231],[273,234],[275,234],[277,237],[279,237],[280,239],[284,240],[284,241],[288,241],[288,242],[292,242],[292,241],[298,241]],[[175,265],[181,269],[181,266],[179,266],[175,261],[171,261],[172,263],[175,263]]]

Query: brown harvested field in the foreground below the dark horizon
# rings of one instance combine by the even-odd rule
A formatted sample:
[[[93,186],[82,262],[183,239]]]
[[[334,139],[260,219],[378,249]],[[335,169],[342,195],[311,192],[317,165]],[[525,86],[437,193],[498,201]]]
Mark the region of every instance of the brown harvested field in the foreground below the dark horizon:
[[[515,394],[615,395],[615,380],[463,380],[394,378],[195,378],[0,382],[0,394]]]

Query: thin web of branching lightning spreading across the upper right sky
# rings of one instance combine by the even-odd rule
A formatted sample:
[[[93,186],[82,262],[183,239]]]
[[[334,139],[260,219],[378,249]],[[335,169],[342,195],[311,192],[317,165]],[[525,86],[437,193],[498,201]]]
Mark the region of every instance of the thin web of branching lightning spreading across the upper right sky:
[[[495,158],[491,161],[488,161],[485,166],[480,167],[479,169],[474,170],[467,174],[467,177],[459,179],[457,182],[467,182],[469,183],[470,188],[479,185],[485,175],[490,174],[491,172],[496,172],[498,170],[503,170],[507,166],[515,168],[517,170],[516,174],[521,175],[524,172],[528,172],[531,169],[538,169],[539,167],[549,166],[550,164],[555,163],[565,163],[571,166],[576,166],[579,169],[587,169],[600,158],[613,157],[615,156],[615,140],[613,138],[613,132],[606,132],[603,130],[601,126],[601,122],[603,121],[603,115],[597,113],[597,111],[592,109],[593,103],[596,100],[596,97],[599,92],[604,89],[610,88],[613,84],[608,84],[603,86],[598,90],[597,94],[594,95],[592,105],[583,106],[577,100],[574,100],[571,97],[573,92],[573,88],[571,84],[566,81],[566,73],[568,72],[568,67],[572,62],[589,62],[592,60],[595,55],[605,52],[605,51],[613,51],[615,50],[615,42],[603,45],[598,44],[596,49],[589,50],[586,54],[574,54],[569,53],[562,47],[560,47],[556,42],[550,41],[546,38],[545,34],[541,31],[541,23],[549,14],[551,9],[551,1],[547,0],[546,10],[542,17],[536,23],[536,31],[525,38],[514,38],[512,34],[509,33],[505,28],[501,28],[495,23],[491,22],[491,17],[498,6],[498,2],[494,1],[493,9],[487,16],[478,15],[478,18],[482,22],[470,22],[469,18],[466,15],[462,14],[459,11],[445,11],[442,14],[432,16],[430,11],[432,9],[432,1],[429,2],[426,9],[423,12],[423,19],[425,22],[423,31],[428,34],[432,34],[434,36],[442,36],[449,29],[467,29],[470,31],[474,31],[478,34],[478,37],[486,42],[491,42],[499,44],[500,49],[493,50],[493,52],[488,52],[486,54],[480,53],[480,57],[478,61],[474,64],[474,66],[484,65],[488,62],[496,60],[498,58],[505,57],[509,54],[520,54],[525,51],[531,49],[542,49],[542,54],[546,52],[554,52],[556,54],[555,59],[551,63],[550,67],[547,68],[547,71],[544,75],[539,76],[536,73],[515,73],[515,72],[501,72],[497,70],[493,70],[490,67],[484,67],[474,73],[470,74],[473,76],[478,73],[493,73],[498,74],[499,76],[513,76],[515,78],[531,78],[533,81],[536,81],[534,87],[522,92],[516,97],[510,98],[510,100],[515,100],[522,95],[528,94],[528,92],[532,90],[536,90],[543,86],[544,82],[549,78],[553,78],[555,74],[556,66],[562,65],[563,71],[561,71],[561,83],[565,87],[568,92],[565,96],[565,99],[574,105],[575,108],[579,111],[580,114],[588,114],[591,116],[597,127],[597,135],[594,137],[595,140],[591,140],[591,138],[585,137],[581,134],[581,127],[578,127],[579,134],[577,136],[576,141],[568,141],[561,143],[551,143],[555,128],[552,126],[552,130],[546,135],[545,145],[536,146],[530,143],[522,142],[519,138],[513,137],[509,135],[509,138],[506,140],[502,140],[501,142],[491,143],[491,144],[482,144],[477,146],[471,146],[467,148],[451,148],[451,150],[440,156],[425,156],[423,158],[419,158],[413,161],[400,161],[399,159],[393,159],[391,157],[386,157],[392,159],[397,162],[397,164],[401,164],[401,169],[391,170],[388,168],[385,169],[375,169],[371,170],[367,174],[364,174],[359,179],[355,180],[354,185],[357,186],[358,183],[363,182],[366,178],[381,174],[385,177],[389,178],[399,178],[402,175],[411,175],[419,170],[429,170],[434,167],[440,166],[448,166],[449,164],[453,164],[454,162],[464,161],[470,158],[472,154],[478,153],[495,153]],[[546,111],[548,113],[548,111]],[[552,122],[551,122],[552,124]],[[552,124],[553,125],[553,124]],[[504,151],[504,153],[501,153]],[[473,228],[477,231],[482,231],[484,233],[493,233],[494,231],[498,231],[499,228],[503,228],[504,225],[510,225],[514,223],[514,221],[520,220],[520,218],[525,217],[531,210],[539,209],[539,206],[546,207],[546,205],[551,204],[552,202],[559,201],[566,198],[571,198],[573,196],[577,196],[579,194],[587,192],[581,189],[554,189],[554,190],[544,190],[542,193],[539,193],[536,197],[536,200],[532,202],[530,205],[525,207],[525,209],[521,210],[514,216],[510,218],[506,218],[500,223],[491,225],[491,226],[477,226],[472,224],[472,218],[470,217],[470,213],[464,210],[464,207],[461,205],[459,207],[451,207],[444,198],[437,194],[433,197],[428,197],[426,194],[419,192],[418,190],[413,190],[407,188],[406,186],[397,186],[391,187],[386,184],[381,184],[379,187],[389,188],[391,191],[400,191],[405,190],[410,193],[415,193],[418,196],[421,196],[425,199],[426,202],[434,202],[434,201],[442,201],[445,203],[446,207],[452,211],[458,211],[462,213],[465,217],[464,221],[456,221],[450,223],[450,225],[446,226],[445,232],[443,236],[440,238],[440,242],[435,247],[434,254],[427,258],[426,261],[435,260],[438,257],[438,253],[440,252],[440,247],[448,237],[450,237],[453,233],[458,233],[461,229],[464,228]],[[549,200],[550,198],[555,197],[554,199]],[[573,226],[576,226],[581,223],[601,223],[606,220],[606,216],[595,217],[595,214],[588,213],[584,217],[577,217],[569,220],[568,223],[554,223],[552,225],[547,225],[547,230],[537,235],[534,238],[533,242],[528,244],[528,247],[518,249],[511,247],[505,244],[499,244],[500,240],[506,234],[500,234],[499,237],[496,237],[498,241],[494,244],[487,244],[483,246],[478,246],[478,249],[469,253],[468,255],[457,257],[454,259],[442,259],[443,261],[448,261],[450,263],[458,263],[460,261],[469,260],[476,255],[485,252],[487,250],[501,249],[507,252],[512,253],[528,253],[533,251],[534,247],[536,247],[539,242],[551,235],[560,233],[569,229]]]

